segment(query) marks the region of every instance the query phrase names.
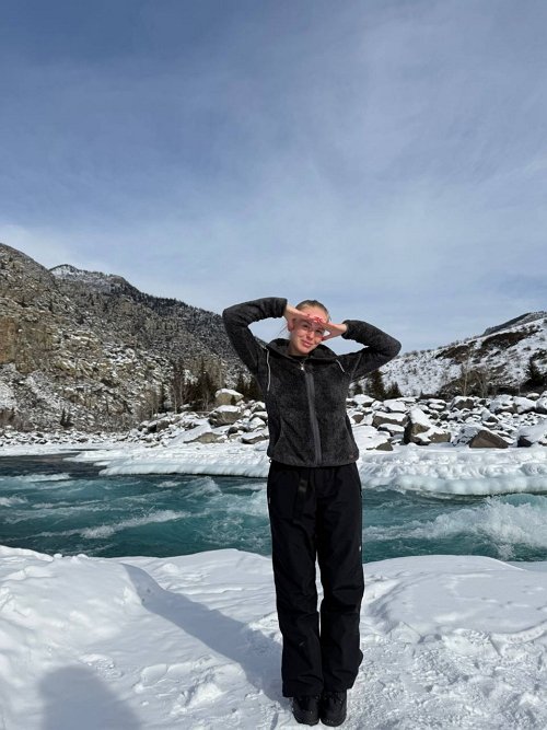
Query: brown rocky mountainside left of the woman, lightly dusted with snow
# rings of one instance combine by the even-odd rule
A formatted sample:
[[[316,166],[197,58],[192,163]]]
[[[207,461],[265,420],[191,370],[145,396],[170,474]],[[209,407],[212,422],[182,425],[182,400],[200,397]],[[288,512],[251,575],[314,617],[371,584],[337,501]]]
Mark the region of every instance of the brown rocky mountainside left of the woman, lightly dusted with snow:
[[[218,314],[0,244],[0,427],[132,426],[168,403],[175,360],[238,369]]]

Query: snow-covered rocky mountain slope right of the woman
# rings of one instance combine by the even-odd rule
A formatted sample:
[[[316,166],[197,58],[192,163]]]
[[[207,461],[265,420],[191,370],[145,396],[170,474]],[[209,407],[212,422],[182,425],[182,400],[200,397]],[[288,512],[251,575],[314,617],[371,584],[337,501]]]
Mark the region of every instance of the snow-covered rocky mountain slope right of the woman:
[[[404,395],[542,391],[547,386],[547,312],[523,314],[434,349],[405,352],[382,372]]]

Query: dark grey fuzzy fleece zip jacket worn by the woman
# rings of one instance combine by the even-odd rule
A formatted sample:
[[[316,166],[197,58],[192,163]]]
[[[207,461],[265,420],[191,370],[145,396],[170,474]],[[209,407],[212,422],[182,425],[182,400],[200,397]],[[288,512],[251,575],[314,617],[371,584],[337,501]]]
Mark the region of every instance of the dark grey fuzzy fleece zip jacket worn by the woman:
[[[288,354],[288,339],[260,345],[248,325],[283,316],[287,299],[235,304],[222,317],[230,340],[257,379],[268,412],[268,456],[294,466],[339,466],[359,457],[346,412],[349,384],[392,360],[400,343],[366,322],[345,320],[345,339],[365,347],[336,355],[318,345],[306,358]]]

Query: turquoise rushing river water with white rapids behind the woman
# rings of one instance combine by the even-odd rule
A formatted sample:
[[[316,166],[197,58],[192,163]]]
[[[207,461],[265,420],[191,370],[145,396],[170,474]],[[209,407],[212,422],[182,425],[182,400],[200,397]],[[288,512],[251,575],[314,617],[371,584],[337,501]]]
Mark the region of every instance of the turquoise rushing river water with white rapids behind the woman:
[[[363,484],[363,560],[487,555],[547,560],[547,497],[443,497]],[[0,544],[40,553],[270,554],[266,480],[102,476],[65,455],[0,457]]]

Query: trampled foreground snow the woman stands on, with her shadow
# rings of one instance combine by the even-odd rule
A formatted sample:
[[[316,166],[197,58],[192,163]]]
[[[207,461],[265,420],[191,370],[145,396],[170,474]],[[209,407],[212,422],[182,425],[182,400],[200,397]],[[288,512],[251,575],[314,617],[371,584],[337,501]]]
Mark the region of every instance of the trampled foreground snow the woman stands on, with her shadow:
[[[4,730],[295,727],[269,558],[0,558]],[[545,728],[547,564],[527,567],[366,564],[345,727]]]

